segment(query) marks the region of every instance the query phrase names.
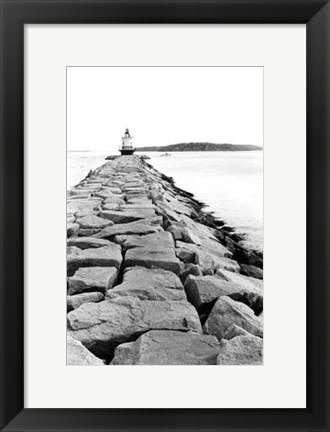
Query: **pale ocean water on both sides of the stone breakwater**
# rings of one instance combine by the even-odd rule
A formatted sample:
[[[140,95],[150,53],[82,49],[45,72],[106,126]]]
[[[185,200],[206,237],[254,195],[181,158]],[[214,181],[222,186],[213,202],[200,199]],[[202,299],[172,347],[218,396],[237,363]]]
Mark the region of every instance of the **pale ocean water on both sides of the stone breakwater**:
[[[263,251],[263,152],[143,153],[157,170],[192,192],[208,211],[246,234],[248,247]],[[67,187],[102,165],[104,152],[68,152]]]

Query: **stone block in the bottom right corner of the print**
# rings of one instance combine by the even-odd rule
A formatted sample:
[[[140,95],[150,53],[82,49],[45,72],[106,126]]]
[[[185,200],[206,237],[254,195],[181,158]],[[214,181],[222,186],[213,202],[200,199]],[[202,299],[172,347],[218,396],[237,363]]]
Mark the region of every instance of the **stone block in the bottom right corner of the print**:
[[[262,365],[263,340],[255,336],[237,336],[222,341],[218,365]]]

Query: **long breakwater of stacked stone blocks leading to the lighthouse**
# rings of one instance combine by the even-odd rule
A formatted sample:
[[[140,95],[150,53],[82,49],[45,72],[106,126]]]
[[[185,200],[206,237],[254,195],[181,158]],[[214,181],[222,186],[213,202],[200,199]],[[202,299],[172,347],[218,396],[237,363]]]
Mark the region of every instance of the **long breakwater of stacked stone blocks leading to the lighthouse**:
[[[68,365],[262,364],[262,255],[142,157],[68,193],[67,237]]]

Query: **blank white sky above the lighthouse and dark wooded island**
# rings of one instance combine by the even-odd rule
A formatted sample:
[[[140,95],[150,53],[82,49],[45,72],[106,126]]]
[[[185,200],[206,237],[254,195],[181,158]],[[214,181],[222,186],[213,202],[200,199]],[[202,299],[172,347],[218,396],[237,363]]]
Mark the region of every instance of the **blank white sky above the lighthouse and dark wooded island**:
[[[68,67],[67,148],[263,146],[262,67]]]

